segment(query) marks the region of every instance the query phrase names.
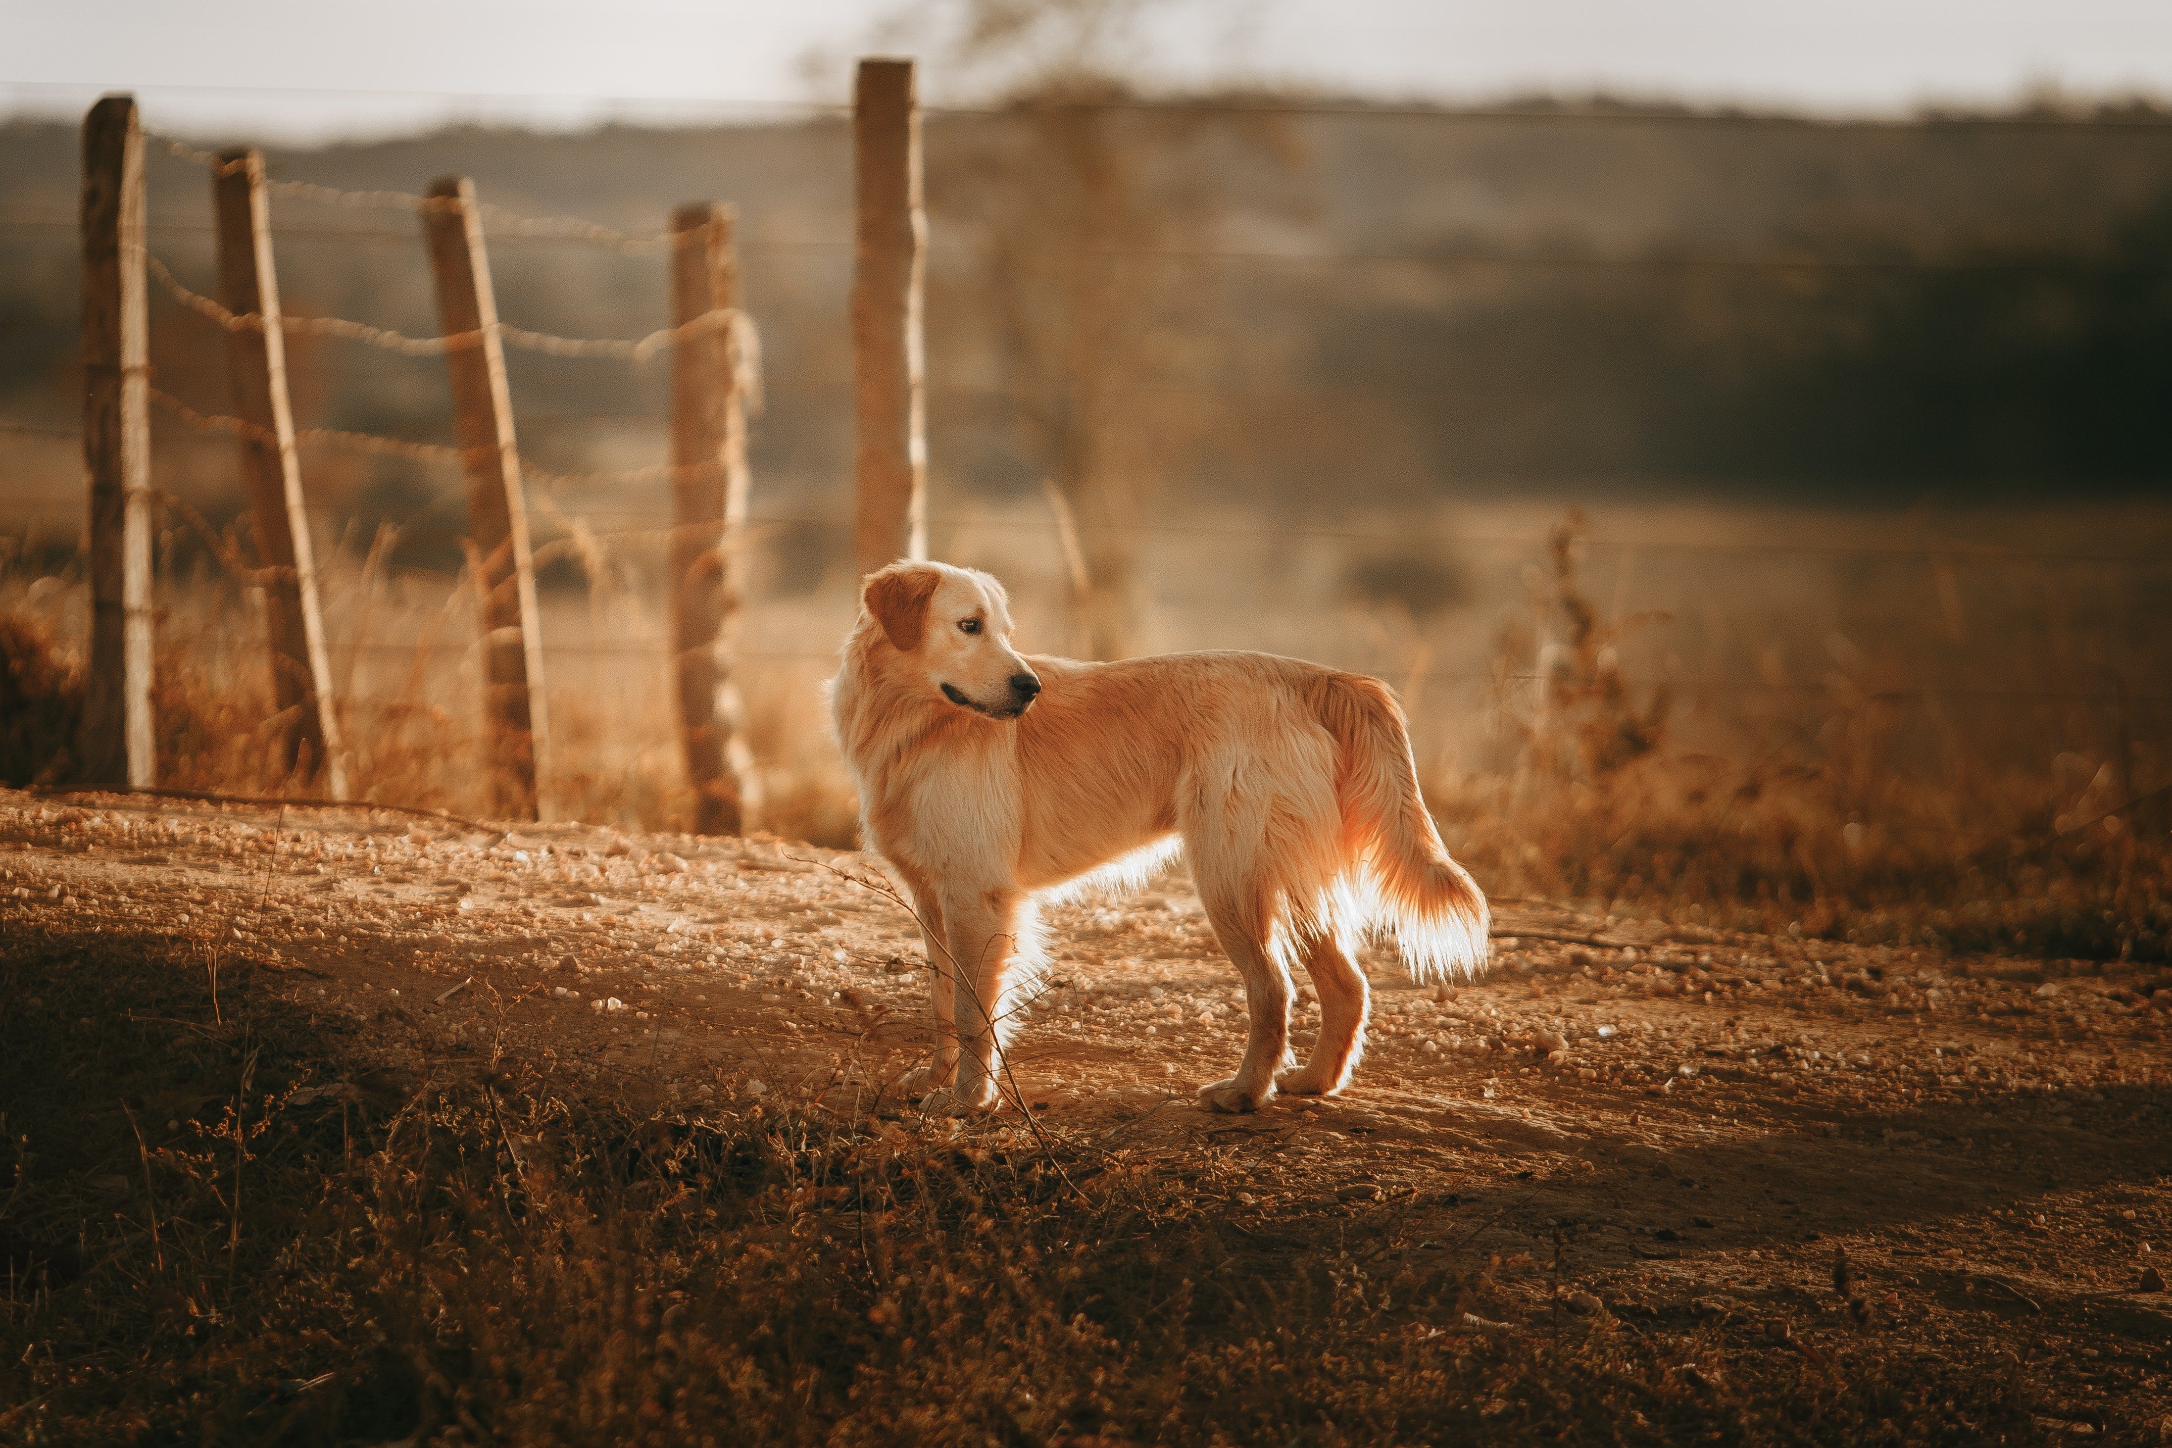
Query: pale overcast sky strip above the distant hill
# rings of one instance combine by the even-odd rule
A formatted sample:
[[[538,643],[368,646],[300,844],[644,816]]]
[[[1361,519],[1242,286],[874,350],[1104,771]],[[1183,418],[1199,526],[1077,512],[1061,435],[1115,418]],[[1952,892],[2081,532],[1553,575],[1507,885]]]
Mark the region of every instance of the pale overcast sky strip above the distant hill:
[[[919,11],[940,9],[921,0]],[[152,126],[267,141],[447,119],[582,126],[847,98],[910,0],[0,0],[0,113],[132,89]],[[973,100],[923,35],[923,98]],[[2172,98],[2172,0],[1160,0],[1147,85],[1295,82],[1381,100],[1512,93],[1892,115],[2033,89]]]

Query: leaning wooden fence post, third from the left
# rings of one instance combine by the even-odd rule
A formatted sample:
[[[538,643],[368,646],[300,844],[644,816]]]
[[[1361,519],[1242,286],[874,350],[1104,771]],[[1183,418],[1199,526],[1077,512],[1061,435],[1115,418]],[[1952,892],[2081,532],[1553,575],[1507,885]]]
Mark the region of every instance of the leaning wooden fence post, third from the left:
[[[545,818],[550,727],[543,712],[543,630],[528,549],[528,504],[513,436],[506,347],[497,334],[491,261],[482,250],[476,182],[445,176],[424,211],[437,310],[447,336],[473,341],[445,352],[454,430],[465,449],[467,528],[476,545],[482,601],[484,716],[491,729],[493,810]]]

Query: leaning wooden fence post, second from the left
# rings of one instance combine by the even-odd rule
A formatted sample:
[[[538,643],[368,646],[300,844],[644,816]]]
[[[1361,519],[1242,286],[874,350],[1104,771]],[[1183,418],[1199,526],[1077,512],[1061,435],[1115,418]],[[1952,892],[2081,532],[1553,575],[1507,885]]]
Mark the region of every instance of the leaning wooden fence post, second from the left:
[[[348,758],[332,701],[332,660],[317,608],[317,551],[302,499],[302,460],[293,445],[287,397],[287,332],[272,265],[272,211],[265,158],[243,145],[219,152],[211,174],[211,206],[219,224],[219,302],[263,326],[228,332],[235,415],[256,423],[241,434],[241,484],[256,523],[256,562],[269,573],[265,601],[272,623],[272,690],[287,723],[282,758],[293,773],[319,769],[332,799],[348,797]],[[304,753],[306,751],[306,753]]]

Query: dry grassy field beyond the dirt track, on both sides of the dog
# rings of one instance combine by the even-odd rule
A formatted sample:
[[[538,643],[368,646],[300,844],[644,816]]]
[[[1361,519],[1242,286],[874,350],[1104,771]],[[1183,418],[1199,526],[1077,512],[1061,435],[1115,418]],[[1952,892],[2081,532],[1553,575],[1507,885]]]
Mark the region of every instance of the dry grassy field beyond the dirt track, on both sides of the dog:
[[[1838,543],[1881,530],[1879,519],[1851,523],[1853,534],[1842,523],[1816,525]],[[1655,525],[1664,538],[1740,545],[1746,562],[1722,575],[1709,560],[1729,554],[1692,556],[1696,573],[1638,586],[1636,551],[1616,549],[1609,586],[1594,586],[1581,519],[1555,523],[1536,556],[1492,562],[1362,536],[1260,543],[1255,532],[1216,541],[1216,567],[1188,569],[1182,549],[1199,541],[1179,534],[1179,551],[1153,569],[1169,590],[1147,610],[1145,647],[1268,647],[1405,688],[1451,847],[1497,894],[1859,942],[2172,957],[2172,721],[2148,690],[2172,677],[2172,656],[2161,630],[2137,630],[2152,575],[2061,582],[2042,564],[2024,597],[2011,582],[2037,567],[2026,560],[1981,577],[1937,560],[1890,575],[1861,560],[1790,573],[1764,562],[1751,523],[1725,510]],[[2026,541],[2044,523],[2000,528]],[[2098,523],[2120,536],[2155,528],[2155,515]],[[2085,549],[2105,536],[2050,543]],[[684,829],[654,560],[578,528],[563,545],[586,586],[545,604],[552,812]],[[1014,582],[1027,643],[1064,636],[1056,538],[1038,504],[960,525],[943,551]],[[198,571],[167,599],[161,777],[304,788],[272,764],[248,590]],[[65,577],[0,580],[9,649],[50,695],[37,706],[43,723],[9,725],[7,777],[65,771],[65,760],[30,760],[22,740],[56,736],[78,601]],[[836,577],[758,599],[741,677],[769,801],[760,825],[836,847],[851,844],[854,799],[821,679],[849,610]],[[361,792],[484,810],[460,582],[387,569],[384,549],[339,554],[328,617]],[[1703,662],[1692,669],[1683,653]],[[1479,662],[1477,677],[1457,675],[1455,658]],[[1755,673],[1755,688],[1696,677],[1729,673]],[[11,708],[11,719],[28,714]]]

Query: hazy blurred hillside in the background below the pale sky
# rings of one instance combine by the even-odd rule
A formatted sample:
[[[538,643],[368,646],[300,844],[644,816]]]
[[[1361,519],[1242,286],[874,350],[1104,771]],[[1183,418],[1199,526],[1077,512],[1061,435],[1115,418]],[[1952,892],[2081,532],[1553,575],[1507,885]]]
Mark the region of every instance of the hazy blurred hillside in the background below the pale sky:
[[[936,115],[936,480],[1008,493],[1101,467],[1299,512],[1503,491],[2155,488],[2172,475],[2172,115],[2098,122],[1255,102]],[[76,132],[7,126],[0,156],[0,415],[65,430]],[[841,495],[843,124],[447,130],[269,161],[343,189],[458,172],[510,211],[628,230],[684,200],[736,204],[769,378],[758,486]],[[206,195],[200,169],[152,158],[152,247],[209,291]],[[282,198],[276,221],[289,310],[437,330],[411,215]],[[502,239],[493,267],[521,326],[665,321],[656,254]],[[154,334],[161,384],[224,406],[217,336],[163,302]],[[545,467],[662,456],[660,363],[513,367],[523,447]],[[428,358],[311,341],[298,393],[304,425],[450,436]],[[17,480],[54,456],[0,432]],[[326,471],[387,515],[430,486],[391,462]],[[178,486],[217,495],[217,460]]]

